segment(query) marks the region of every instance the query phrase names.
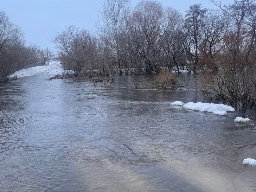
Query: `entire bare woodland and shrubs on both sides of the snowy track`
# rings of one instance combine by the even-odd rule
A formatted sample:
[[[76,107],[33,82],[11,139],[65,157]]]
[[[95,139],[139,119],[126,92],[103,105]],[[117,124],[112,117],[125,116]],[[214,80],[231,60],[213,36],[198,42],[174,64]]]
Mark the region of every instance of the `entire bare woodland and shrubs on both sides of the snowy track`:
[[[75,75],[187,70],[197,74],[205,97],[255,105],[256,2],[210,2],[211,10],[194,4],[181,14],[152,0],[134,8],[129,0],[105,0],[95,32],[67,25],[52,42],[64,69]],[[0,11],[0,79],[52,57],[28,45],[20,28]]]

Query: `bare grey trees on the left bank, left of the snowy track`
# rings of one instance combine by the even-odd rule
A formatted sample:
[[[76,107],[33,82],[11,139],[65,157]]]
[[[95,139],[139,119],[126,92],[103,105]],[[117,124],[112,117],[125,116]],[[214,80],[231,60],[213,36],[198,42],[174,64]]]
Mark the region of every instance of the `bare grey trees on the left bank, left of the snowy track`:
[[[49,51],[48,55],[51,58],[53,53]],[[0,81],[19,69],[45,65],[46,61],[47,50],[27,44],[22,30],[0,11]]]

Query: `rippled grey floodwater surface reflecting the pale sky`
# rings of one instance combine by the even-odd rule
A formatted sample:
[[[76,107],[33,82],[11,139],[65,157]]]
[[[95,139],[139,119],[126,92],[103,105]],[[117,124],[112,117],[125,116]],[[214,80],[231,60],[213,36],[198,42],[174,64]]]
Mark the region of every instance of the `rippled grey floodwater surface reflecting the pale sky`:
[[[0,191],[253,191],[253,121],[170,106],[187,86],[135,89],[28,77],[0,84]],[[196,86],[189,74],[180,76]]]

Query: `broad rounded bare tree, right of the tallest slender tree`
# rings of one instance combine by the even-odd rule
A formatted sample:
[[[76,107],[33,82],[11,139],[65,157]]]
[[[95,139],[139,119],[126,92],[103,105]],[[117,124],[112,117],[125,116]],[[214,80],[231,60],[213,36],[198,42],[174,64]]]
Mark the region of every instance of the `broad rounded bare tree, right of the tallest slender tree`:
[[[144,65],[146,74],[158,73],[164,39],[163,8],[156,1],[141,1],[128,19],[134,54]]]

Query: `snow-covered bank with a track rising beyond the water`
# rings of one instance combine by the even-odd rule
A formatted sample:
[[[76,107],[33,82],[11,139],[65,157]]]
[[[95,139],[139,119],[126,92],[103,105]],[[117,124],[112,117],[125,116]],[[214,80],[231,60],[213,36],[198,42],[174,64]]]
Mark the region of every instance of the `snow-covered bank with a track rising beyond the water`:
[[[37,66],[37,67],[30,67],[27,69],[21,69],[16,71],[14,74],[10,75],[10,78],[13,76],[17,76],[18,78],[26,77],[26,76],[33,76],[33,75],[62,75],[62,73],[67,74],[68,70],[64,70],[60,61],[49,61],[49,65],[45,66]],[[72,72],[71,72],[72,73]]]

